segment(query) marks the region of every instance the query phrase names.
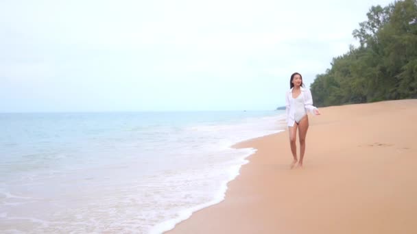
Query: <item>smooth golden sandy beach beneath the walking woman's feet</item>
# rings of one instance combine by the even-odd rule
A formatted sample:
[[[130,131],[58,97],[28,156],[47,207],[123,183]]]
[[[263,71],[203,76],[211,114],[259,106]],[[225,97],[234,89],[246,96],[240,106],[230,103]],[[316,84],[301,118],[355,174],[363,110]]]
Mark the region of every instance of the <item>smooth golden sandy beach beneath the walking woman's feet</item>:
[[[225,200],[167,233],[417,233],[417,99],[320,112],[304,168],[287,131],[241,142],[257,153]]]

